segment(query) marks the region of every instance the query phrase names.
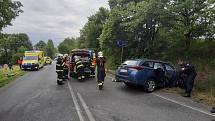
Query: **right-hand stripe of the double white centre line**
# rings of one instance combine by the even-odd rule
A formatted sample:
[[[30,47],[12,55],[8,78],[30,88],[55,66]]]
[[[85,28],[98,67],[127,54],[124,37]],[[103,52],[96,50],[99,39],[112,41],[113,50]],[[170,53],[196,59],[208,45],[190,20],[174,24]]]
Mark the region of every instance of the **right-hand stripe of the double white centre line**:
[[[84,110],[86,111],[87,113],[87,116],[89,118],[90,121],[95,121],[95,118],[93,117],[92,113],[90,112],[90,109],[89,107],[87,106],[87,104],[85,103],[84,99],[82,98],[81,94],[80,93],[77,93],[78,95],[78,98],[80,99],[81,103],[82,103],[82,106],[84,107]]]

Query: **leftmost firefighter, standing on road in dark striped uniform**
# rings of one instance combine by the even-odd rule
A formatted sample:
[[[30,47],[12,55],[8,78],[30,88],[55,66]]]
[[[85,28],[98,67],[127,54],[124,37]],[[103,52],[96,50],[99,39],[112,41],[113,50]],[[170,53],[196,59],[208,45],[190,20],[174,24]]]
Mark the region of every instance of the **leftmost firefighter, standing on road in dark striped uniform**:
[[[57,84],[58,85],[63,84],[63,80],[64,80],[64,78],[63,78],[63,67],[64,67],[63,56],[58,55],[57,63],[56,63]]]

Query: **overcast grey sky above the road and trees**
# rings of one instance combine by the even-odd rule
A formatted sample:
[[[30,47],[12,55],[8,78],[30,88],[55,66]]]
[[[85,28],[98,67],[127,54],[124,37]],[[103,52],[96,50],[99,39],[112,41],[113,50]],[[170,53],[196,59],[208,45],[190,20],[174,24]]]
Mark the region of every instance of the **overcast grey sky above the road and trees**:
[[[19,0],[21,13],[4,29],[5,33],[27,33],[33,44],[49,38],[58,45],[66,37],[78,37],[87,17],[99,7],[108,8],[108,0]]]

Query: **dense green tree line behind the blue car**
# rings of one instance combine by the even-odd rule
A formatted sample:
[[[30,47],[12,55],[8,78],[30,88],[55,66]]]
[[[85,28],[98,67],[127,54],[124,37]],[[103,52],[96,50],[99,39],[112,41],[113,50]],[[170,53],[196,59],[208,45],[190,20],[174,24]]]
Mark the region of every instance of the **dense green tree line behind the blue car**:
[[[110,10],[100,8],[88,18],[77,46],[103,50],[112,66],[120,62],[118,40],[128,41],[125,59],[189,59],[200,42],[214,43],[214,4],[214,0],[109,0]]]

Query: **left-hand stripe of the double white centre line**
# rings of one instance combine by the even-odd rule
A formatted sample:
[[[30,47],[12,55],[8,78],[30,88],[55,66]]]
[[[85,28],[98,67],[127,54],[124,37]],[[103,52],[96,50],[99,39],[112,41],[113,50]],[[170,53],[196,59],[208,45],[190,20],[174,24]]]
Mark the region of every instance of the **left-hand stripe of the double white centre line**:
[[[78,117],[79,117],[80,121],[84,121],[84,117],[83,117],[83,115],[81,113],[81,108],[80,108],[80,106],[78,104],[77,98],[75,97],[75,94],[74,94],[74,92],[72,90],[71,85],[69,84],[69,81],[67,81],[67,83],[68,83],[68,86],[69,86],[69,90],[70,90],[70,94],[72,96],[73,102],[75,104],[75,109],[76,109],[76,111],[78,113]]]

